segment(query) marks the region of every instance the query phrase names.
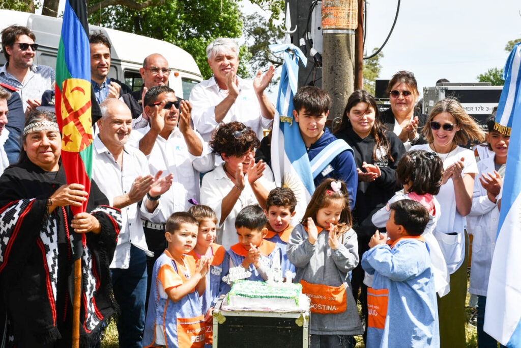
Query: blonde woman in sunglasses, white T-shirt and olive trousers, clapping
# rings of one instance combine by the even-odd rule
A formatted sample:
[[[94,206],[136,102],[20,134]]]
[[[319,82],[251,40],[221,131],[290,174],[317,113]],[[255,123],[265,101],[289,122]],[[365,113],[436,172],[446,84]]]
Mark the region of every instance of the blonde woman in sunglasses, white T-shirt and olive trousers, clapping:
[[[450,273],[450,292],[438,298],[441,347],[465,346],[468,234],[466,219],[472,207],[474,152],[461,147],[469,140],[481,143],[485,134],[455,99],[437,102],[423,130],[426,144],[411,150],[433,151],[443,161],[443,183],[436,198],[441,206],[435,236]]]

